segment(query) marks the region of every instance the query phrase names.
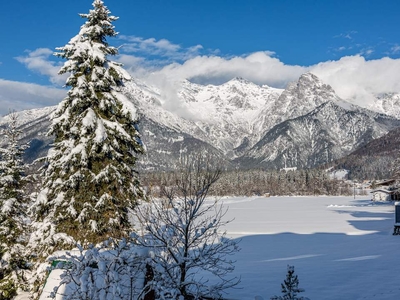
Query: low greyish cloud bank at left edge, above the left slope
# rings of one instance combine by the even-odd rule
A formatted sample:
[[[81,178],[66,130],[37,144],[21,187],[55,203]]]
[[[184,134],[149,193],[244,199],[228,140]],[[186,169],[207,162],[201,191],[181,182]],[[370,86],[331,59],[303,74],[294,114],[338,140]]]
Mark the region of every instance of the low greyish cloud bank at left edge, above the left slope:
[[[0,79],[0,116],[9,110],[25,110],[58,104],[66,90]]]

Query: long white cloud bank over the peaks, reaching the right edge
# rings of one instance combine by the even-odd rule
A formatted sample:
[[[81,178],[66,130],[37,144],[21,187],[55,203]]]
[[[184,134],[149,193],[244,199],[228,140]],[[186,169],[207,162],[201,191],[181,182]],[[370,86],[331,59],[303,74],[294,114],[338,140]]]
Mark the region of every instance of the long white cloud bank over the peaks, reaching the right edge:
[[[339,60],[312,66],[287,65],[269,52],[256,52],[243,57],[223,58],[198,56],[182,64],[173,63],[142,76],[161,89],[169,89],[174,82],[190,79],[198,83],[221,84],[235,76],[244,77],[257,84],[285,87],[290,81],[311,71],[331,85],[343,99],[366,107],[374,95],[400,92],[400,59],[384,57],[366,60],[361,55],[345,56]],[[171,94],[171,93],[169,93]],[[180,107],[177,97],[167,98],[170,108]]]

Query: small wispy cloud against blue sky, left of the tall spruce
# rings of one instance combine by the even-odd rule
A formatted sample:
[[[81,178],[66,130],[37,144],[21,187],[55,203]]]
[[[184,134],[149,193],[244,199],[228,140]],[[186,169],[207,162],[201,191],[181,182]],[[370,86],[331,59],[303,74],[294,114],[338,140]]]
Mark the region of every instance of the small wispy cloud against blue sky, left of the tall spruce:
[[[64,85],[68,75],[58,75],[61,63],[50,60],[53,51],[48,48],[38,48],[34,51],[27,50],[27,56],[18,56],[15,59],[24,64],[29,70],[49,77],[50,82]]]

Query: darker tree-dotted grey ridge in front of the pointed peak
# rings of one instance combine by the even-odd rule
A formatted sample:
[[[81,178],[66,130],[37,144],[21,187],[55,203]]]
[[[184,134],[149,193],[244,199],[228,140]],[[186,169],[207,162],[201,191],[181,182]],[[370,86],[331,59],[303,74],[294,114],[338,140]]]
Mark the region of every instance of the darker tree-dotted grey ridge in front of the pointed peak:
[[[400,126],[400,121],[371,115],[348,110],[335,101],[325,102],[308,114],[273,127],[238,162],[248,167],[315,167]]]

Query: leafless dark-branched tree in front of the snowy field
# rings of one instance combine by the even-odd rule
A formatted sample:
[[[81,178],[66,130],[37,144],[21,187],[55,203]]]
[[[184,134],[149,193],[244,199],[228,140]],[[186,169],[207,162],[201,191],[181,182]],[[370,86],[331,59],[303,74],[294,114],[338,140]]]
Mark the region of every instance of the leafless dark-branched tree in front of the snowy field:
[[[162,187],[163,198],[140,206],[142,225],[134,236],[150,250],[152,278],[143,294],[156,299],[220,299],[221,293],[238,284],[230,278],[239,248],[226,238],[222,227],[226,210],[217,201],[206,202],[221,171],[204,155],[186,157],[174,174],[174,184]],[[211,199],[210,199],[211,200]]]

